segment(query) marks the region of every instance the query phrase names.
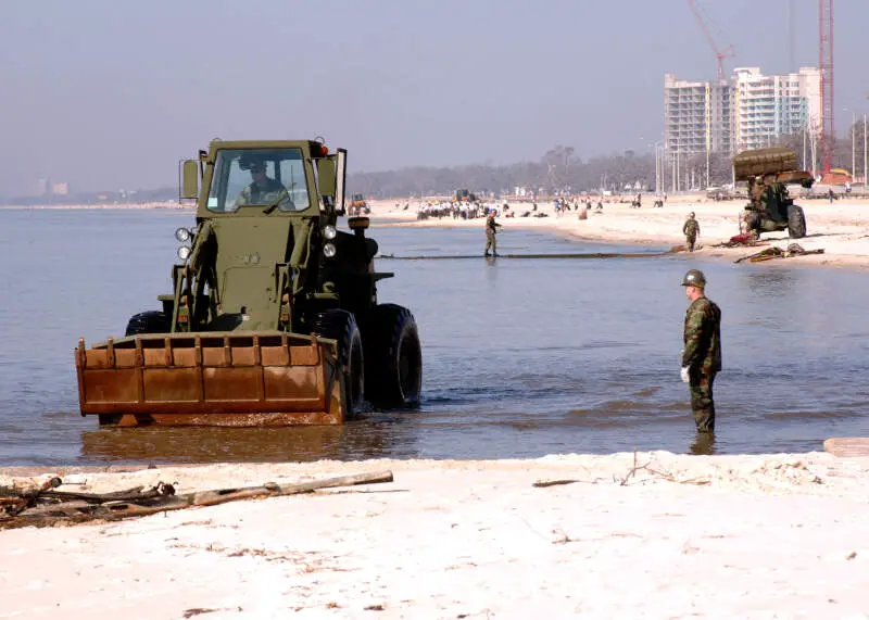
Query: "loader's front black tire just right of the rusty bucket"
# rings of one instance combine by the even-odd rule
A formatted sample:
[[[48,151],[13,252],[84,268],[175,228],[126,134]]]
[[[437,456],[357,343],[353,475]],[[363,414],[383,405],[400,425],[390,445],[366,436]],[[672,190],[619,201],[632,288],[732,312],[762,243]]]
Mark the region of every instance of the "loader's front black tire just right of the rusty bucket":
[[[365,395],[365,357],[356,319],[347,311],[326,311],[314,319],[314,333],[338,341],[338,359],[344,372],[347,413],[358,413]]]

